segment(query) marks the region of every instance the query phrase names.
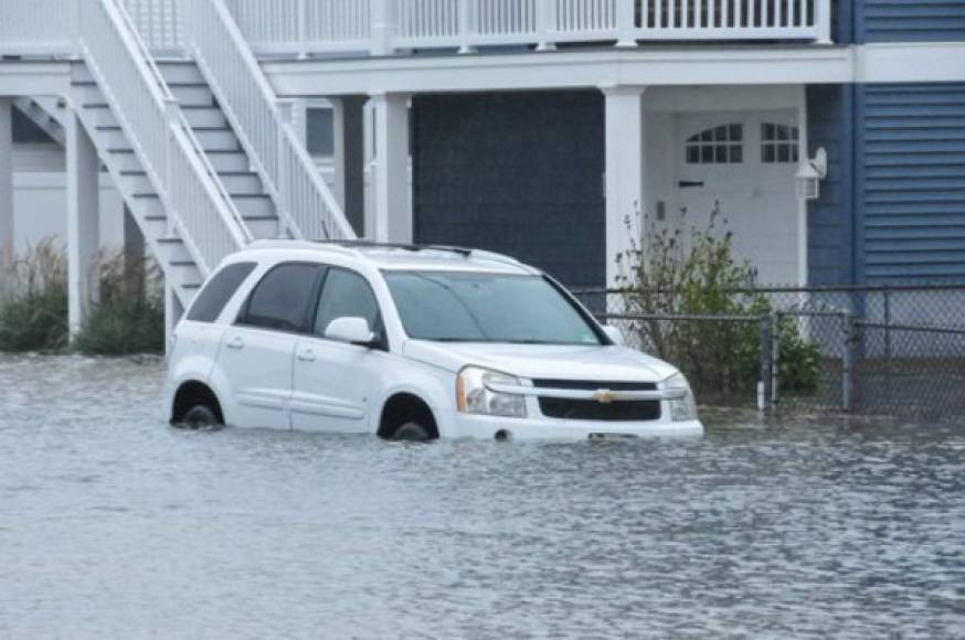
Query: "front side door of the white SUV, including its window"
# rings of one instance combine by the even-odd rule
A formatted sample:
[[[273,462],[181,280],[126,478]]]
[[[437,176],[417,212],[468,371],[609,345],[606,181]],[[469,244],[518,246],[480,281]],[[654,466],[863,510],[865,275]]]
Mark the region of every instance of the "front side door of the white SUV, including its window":
[[[325,275],[310,337],[295,349],[291,423],[296,429],[330,433],[369,430],[372,388],[385,349],[359,346],[324,338],[337,318],[364,318],[385,349],[379,303],[360,274],[331,267]]]

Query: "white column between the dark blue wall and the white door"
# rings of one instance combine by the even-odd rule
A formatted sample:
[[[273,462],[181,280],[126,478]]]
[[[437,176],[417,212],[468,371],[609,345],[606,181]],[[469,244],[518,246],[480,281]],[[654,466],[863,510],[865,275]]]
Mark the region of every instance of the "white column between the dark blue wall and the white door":
[[[625,268],[616,258],[630,247],[627,221],[645,213],[644,92],[640,86],[604,87],[606,102],[606,286]],[[641,231],[638,230],[637,231]],[[643,238],[636,238],[641,242]],[[624,266],[626,258],[623,260]]]

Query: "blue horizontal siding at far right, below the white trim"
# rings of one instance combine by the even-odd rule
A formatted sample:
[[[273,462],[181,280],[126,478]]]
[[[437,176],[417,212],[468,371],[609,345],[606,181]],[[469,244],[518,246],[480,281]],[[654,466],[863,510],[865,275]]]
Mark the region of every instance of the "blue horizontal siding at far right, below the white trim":
[[[965,278],[965,83],[857,92],[860,275]]]

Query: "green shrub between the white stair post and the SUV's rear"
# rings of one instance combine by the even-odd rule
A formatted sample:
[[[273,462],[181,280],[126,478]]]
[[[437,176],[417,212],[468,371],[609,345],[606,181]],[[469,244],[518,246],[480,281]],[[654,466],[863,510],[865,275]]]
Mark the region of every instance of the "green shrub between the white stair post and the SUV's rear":
[[[74,348],[87,355],[130,355],[165,350],[165,303],[159,269],[124,254],[99,263],[100,297],[92,305]]]

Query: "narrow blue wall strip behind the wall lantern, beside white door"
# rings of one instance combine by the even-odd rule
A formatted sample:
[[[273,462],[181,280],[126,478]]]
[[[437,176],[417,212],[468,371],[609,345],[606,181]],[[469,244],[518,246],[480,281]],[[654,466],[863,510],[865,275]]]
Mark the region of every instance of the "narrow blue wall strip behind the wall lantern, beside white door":
[[[808,281],[839,285],[855,280],[853,260],[853,86],[807,88],[808,145],[814,157],[828,152],[828,177],[820,199],[808,203]]]

